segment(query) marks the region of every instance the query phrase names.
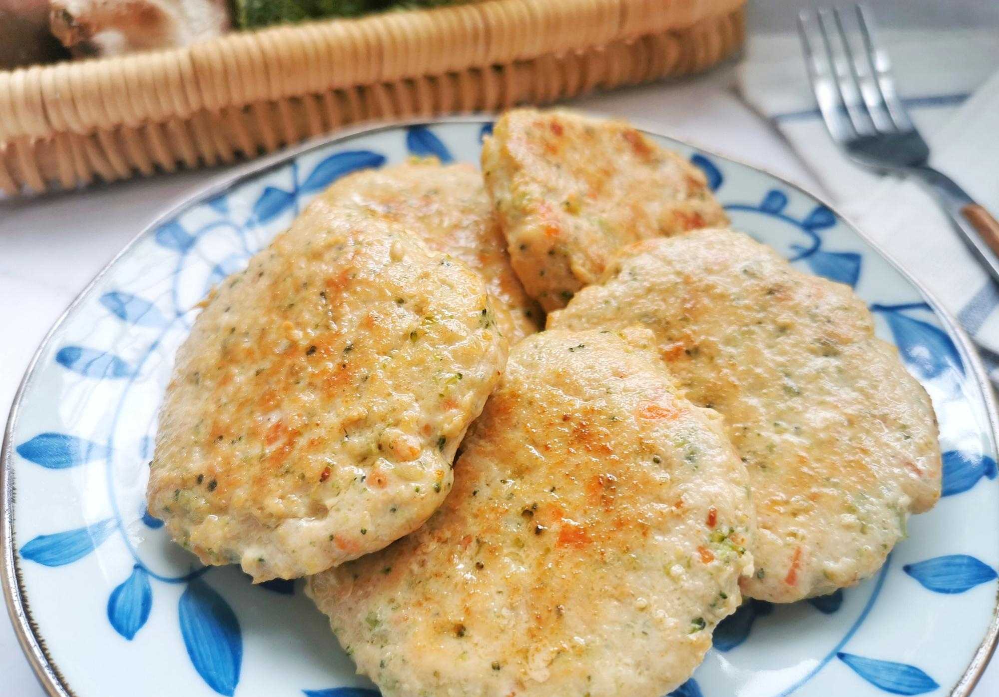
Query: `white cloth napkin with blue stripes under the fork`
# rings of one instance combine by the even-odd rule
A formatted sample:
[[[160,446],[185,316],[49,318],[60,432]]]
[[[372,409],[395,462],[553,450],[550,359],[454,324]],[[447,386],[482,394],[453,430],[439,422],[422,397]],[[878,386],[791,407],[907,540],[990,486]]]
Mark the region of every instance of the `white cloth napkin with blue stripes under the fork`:
[[[999,41],[994,32],[898,31],[881,32],[880,38],[898,91],[930,145],[930,164],[999,216]],[[872,174],[840,153],[815,108],[797,37],[754,37],[739,67],[738,87],[833,203],[986,349],[986,363],[999,383],[999,285],[919,185]]]

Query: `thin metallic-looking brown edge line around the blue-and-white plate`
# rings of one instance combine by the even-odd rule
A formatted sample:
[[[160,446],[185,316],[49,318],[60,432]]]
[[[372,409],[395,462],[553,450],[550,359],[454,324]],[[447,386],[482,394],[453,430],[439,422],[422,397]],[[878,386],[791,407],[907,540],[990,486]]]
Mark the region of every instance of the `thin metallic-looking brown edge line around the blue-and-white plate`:
[[[588,110],[582,109],[577,111],[586,113]],[[55,664],[55,661],[53,661],[52,657],[49,655],[48,649],[45,646],[45,638],[41,636],[40,632],[37,630],[37,625],[31,617],[30,608],[25,602],[23,595],[23,579],[15,558],[16,555],[13,538],[14,480],[12,476],[12,453],[14,448],[14,429],[20,415],[21,401],[23,400],[30,383],[33,381],[32,378],[35,376],[37,371],[39,358],[41,357],[42,352],[49,346],[58,330],[62,328],[70,315],[75,312],[77,308],[79,308],[79,306],[83,303],[84,298],[104,279],[105,276],[110,273],[111,269],[119,262],[119,260],[128,254],[140,241],[146,239],[146,237],[153,230],[160,227],[164,223],[169,222],[171,219],[176,218],[188,207],[199,201],[212,199],[223,192],[233,189],[245,180],[258,177],[270,170],[281,167],[289,160],[301,157],[302,155],[310,153],[314,150],[326,148],[340,141],[346,141],[359,136],[381,133],[383,131],[401,130],[411,126],[436,126],[441,124],[486,125],[495,123],[497,118],[498,116],[496,114],[480,112],[461,116],[436,118],[418,117],[413,119],[379,121],[376,123],[368,122],[361,126],[345,129],[334,135],[309,139],[297,146],[267,155],[258,160],[238,166],[230,172],[220,174],[219,176],[209,180],[206,185],[196,186],[192,191],[176,197],[170,204],[165,206],[158,214],[150,219],[150,222],[144,226],[142,230],[135,235],[135,237],[129,240],[129,242],[114,257],[112,257],[112,259],[104,267],[101,268],[94,278],[87,283],[87,285],[59,315],[48,332],[45,333],[45,336],[39,343],[38,348],[35,349],[31,359],[28,361],[24,374],[18,383],[17,390],[14,393],[14,399],[11,401],[10,413],[7,416],[7,423],[4,427],[3,441],[2,444],[0,444],[0,586],[3,587],[3,596],[7,607],[7,613],[10,617],[11,625],[14,628],[14,633],[17,636],[18,643],[21,646],[21,650],[27,658],[28,663],[31,665],[31,668],[35,673],[35,677],[38,679],[42,688],[49,695],[49,697],[77,697],[77,695],[72,686],[69,685],[63,678],[61,671]],[[604,117],[601,116],[600,118]],[[811,197],[819,204],[829,209],[837,219],[842,221],[855,235],[857,235],[857,237],[863,240],[871,249],[880,255],[882,259],[888,262],[888,264],[896,272],[898,272],[903,279],[909,282],[916,290],[919,291],[920,294],[922,294],[927,304],[937,317],[940,318],[940,321],[948,330],[948,334],[957,340],[961,356],[970,364],[970,372],[974,376],[979,388],[982,391],[985,401],[985,411],[992,431],[993,442],[996,444],[997,449],[999,449],[999,408],[997,408],[996,394],[993,391],[988,374],[986,373],[981,357],[978,354],[978,349],[974,347],[964,329],[958,324],[955,318],[951,316],[950,312],[940,304],[935,296],[922,283],[914,279],[909,272],[900,266],[890,254],[886,253],[880,245],[876,244],[870,239],[870,237],[860,230],[860,228],[858,228],[850,218],[843,215],[839,209],[826,201],[825,197],[815,194],[805,187],[792,182],[781,175],[771,172],[765,167],[748,163],[740,158],[731,157],[712,148],[703,147],[695,140],[677,138],[668,135],[662,131],[643,124],[640,119],[632,120],[632,123],[636,124],[636,128],[638,128],[638,130],[649,135],[666,138],[675,143],[679,143],[689,148],[693,148],[701,153],[705,153],[709,156],[717,157],[721,160],[726,160],[736,165],[746,167],[750,170],[760,172],[780,182],[781,184],[804,194],[805,196]],[[997,598],[993,601],[992,619],[989,622],[988,629],[982,643],[975,650],[967,668],[965,668],[960,679],[948,693],[948,697],[969,697],[971,695],[972,690],[978,684],[982,673],[985,671],[986,666],[989,664],[989,661],[996,650],[997,640],[999,640],[999,596],[997,596]]]

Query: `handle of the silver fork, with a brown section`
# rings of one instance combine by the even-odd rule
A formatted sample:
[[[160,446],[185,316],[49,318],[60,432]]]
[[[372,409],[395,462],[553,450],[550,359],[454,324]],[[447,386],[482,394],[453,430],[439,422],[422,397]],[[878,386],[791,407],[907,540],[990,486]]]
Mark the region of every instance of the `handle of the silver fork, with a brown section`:
[[[999,283],[999,222],[942,172],[926,166],[910,172],[929,187],[968,249]]]

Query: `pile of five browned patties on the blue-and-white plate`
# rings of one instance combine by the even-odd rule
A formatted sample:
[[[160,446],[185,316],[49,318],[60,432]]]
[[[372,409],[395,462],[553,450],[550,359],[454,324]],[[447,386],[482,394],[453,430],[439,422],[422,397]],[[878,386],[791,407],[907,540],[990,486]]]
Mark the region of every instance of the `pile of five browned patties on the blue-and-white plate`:
[[[661,697],[741,593],[856,583],[933,505],[864,305],[688,162],[517,110],[483,169],[347,177],[208,301],[150,480],[206,563],[313,574],[386,697]]]

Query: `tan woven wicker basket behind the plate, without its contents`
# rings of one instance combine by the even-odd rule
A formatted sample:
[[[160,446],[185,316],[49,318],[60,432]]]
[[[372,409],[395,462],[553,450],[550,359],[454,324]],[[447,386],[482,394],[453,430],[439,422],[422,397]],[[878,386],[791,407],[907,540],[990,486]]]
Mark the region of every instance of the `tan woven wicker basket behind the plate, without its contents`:
[[[703,70],[744,0],[490,0],[0,72],[0,189],[255,157],[364,120],[496,111]]]

